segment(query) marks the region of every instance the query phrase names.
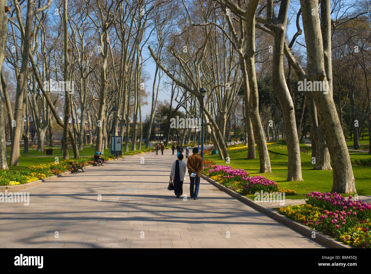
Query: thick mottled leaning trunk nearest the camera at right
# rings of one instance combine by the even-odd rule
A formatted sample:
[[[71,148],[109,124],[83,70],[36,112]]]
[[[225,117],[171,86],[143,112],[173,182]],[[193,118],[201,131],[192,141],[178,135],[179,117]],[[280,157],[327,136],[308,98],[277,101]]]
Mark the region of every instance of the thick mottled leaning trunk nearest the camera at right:
[[[310,81],[325,81],[325,83],[327,83],[318,0],[301,0],[300,2],[308,56],[307,76]],[[312,10],[316,13],[314,16]],[[327,12],[330,12],[329,8]],[[322,20],[326,19],[328,19],[327,16],[326,18],[322,16]],[[331,87],[327,87],[327,90],[330,88]],[[326,144],[334,169],[332,173],[334,179],[332,192],[354,193],[356,189],[352,164],[335,103],[332,99],[332,92],[326,93],[324,90],[318,90],[311,91],[311,94],[318,109],[319,121],[324,131]]]

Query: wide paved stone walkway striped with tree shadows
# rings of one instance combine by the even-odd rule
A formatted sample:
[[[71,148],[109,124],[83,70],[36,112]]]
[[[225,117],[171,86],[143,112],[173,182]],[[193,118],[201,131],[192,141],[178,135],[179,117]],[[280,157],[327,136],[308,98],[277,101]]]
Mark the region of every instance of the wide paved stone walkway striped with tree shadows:
[[[323,247],[203,179],[199,200],[176,198],[167,190],[175,156],[164,154],[8,190],[29,192],[30,204],[0,203],[0,248]]]

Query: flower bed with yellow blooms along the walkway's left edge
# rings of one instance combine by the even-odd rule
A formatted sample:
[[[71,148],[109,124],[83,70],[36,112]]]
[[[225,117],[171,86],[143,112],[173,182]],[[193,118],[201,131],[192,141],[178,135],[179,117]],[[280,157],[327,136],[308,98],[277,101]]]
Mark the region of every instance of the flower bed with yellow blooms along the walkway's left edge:
[[[101,157],[105,160],[112,160],[109,156],[102,155]],[[82,157],[74,160],[77,163],[84,163],[87,166],[93,162],[93,157]],[[72,170],[72,161],[60,160],[59,162],[49,164],[29,166],[25,169],[4,171],[0,174],[0,186],[22,185]]]

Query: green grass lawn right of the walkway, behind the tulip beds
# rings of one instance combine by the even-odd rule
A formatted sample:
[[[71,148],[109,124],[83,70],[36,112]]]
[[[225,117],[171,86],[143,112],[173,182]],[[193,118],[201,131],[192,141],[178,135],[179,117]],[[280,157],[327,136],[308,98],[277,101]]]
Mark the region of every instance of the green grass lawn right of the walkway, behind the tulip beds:
[[[300,144],[301,148],[305,148],[305,144]],[[286,195],[286,199],[303,199],[308,192],[320,191],[331,192],[332,188],[332,170],[313,170],[311,163],[312,155],[301,152],[302,176],[303,181],[286,182],[287,179],[287,146],[285,141],[280,141],[279,144],[273,147],[268,147],[271,173],[259,173],[259,154],[256,150],[256,159],[247,160],[247,151],[230,153],[231,166],[234,169],[240,168],[250,173],[250,176],[262,175],[269,180],[273,180],[279,187],[295,190],[299,195]],[[309,148],[311,153],[311,148]],[[351,159],[355,158],[370,158],[367,153],[350,153]],[[219,159],[219,155],[205,156],[209,160],[213,160],[217,164],[226,164],[224,160]],[[353,165],[353,173],[355,177],[355,187],[358,195],[371,195],[371,167]],[[353,194],[353,193],[352,193]]]

